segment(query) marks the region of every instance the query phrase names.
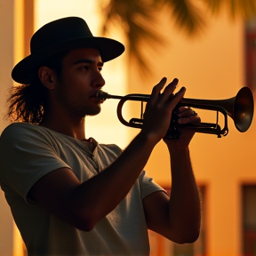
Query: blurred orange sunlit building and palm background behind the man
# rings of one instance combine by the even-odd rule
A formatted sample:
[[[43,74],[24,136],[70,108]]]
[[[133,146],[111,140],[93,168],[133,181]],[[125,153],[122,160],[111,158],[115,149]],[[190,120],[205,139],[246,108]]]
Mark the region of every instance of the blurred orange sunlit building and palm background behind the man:
[[[178,89],[187,88],[186,98],[229,99],[243,86],[249,86],[254,97],[255,0],[0,0],[0,132],[9,124],[4,119],[8,88],[17,85],[11,78],[13,66],[30,53],[36,29],[67,16],[84,18],[94,36],[109,36],[125,45],[121,57],[104,65],[105,92],[149,94],[166,76],[170,82],[179,78]],[[138,129],[119,122],[117,104],[106,100],[99,116],[87,118],[86,137],[126,147]],[[197,112],[203,122],[216,121],[212,111]],[[140,116],[140,106],[127,103],[124,116]],[[191,142],[202,196],[199,239],[178,245],[149,232],[151,256],[256,255],[255,118],[247,132],[238,132],[228,117],[228,129],[222,138],[196,132]],[[169,167],[167,148],[160,142],[145,170],[168,191]],[[27,255],[2,190],[0,255]]]

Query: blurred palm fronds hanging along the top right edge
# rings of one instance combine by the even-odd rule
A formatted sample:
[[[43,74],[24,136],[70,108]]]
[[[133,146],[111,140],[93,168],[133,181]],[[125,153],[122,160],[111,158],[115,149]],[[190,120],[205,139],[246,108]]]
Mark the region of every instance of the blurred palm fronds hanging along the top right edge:
[[[143,50],[149,47],[156,52],[159,49],[157,46],[163,46],[166,42],[154,26],[157,17],[161,16],[159,12],[162,8],[170,10],[170,18],[176,21],[176,26],[186,35],[196,36],[205,28],[205,12],[198,7],[200,4],[210,10],[212,15],[218,15],[224,8],[233,19],[242,16],[245,20],[256,15],[256,0],[108,0],[107,4],[102,4],[105,13],[102,32],[106,34],[112,24],[119,24],[126,36],[130,57],[139,64],[141,74],[145,74],[150,69],[147,66],[147,54],[145,51],[142,53],[141,45]]]

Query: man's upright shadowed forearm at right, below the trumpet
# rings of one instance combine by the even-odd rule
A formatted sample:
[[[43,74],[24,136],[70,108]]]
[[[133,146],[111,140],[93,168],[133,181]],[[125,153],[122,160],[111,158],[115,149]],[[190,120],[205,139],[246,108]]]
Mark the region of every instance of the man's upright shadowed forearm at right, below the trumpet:
[[[199,234],[201,207],[198,188],[192,170],[189,149],[170,148],[172,166],[172,191],[169,203],[169,217],[176,232],[190,237]],[[187,232],[188,231],[188,232]],[[186,235],[187,236],[187,235]],[[191,238],[191,240],[194,240]]]

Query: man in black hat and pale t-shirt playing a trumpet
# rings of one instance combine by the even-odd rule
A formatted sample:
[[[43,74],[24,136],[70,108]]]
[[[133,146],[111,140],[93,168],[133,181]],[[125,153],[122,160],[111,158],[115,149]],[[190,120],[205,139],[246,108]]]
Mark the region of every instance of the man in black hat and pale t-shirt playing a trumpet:
[[[36,31],[31,54],[12,70],[23,85],[12,89],[9,116],[21,122],[2,133],[0,181],[28,256],[148,255],[148,228],[179,244],[199,235],[188,150],[194,132],[165,137],[186,91],[173,93],[177,79],[153,88],[143,128],[124,151],[85,136],[85,116],[100,113],[103,63],[123,52],[123,44],[94,37],[84,20],[68,17]],[[180,124],[200,122],[190,108],[179,116]],[[172,160],[170,198],[143,171],[163,138]]]

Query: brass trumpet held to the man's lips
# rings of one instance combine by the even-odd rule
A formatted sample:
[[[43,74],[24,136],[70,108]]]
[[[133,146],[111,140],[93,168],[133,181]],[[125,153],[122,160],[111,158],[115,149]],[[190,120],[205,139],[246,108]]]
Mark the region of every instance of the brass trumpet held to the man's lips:
[[[108,92],[99,91],[97,98],[101,101],[107,99],[118,99],[120,100],[117,105],[117,117],[119,121],[130,127],[134,128],[142,128],[143,125],[143,102],[148,102],[150,95],[148,94],[139,94],[132,93],[125,96],[119,95],[111,95]],[[140,101],[140,118],[132,118],[129,122],[127,122],[122,115],[122,108],[124,106],[124,102],[127,100],[135,100]],[[217,120],[216,123],[199,123],[199,124],[178,124],[178,116],[175,114],[178,108],[181,106],[188,108],[199,108],[216,111]],[[180,131],[182,129],[189,129],[194,132],[202,132],[208,134],[216,134],[218,138],[222,136],[226,136],[228,134],[228,116],[230,116],[236,129],[239,132],[246,132],[250,125],[252,124],[253,117],[253,109],[254,109],[254,101],[252,90],[244,86],[239,92],[237,92],[235,97],[226,99],[226,100],[201,100],[201,99],[188,99],[182,98],[177,106],[172,111],[172,118],[170,122],[169,129],[164,138],[166,139],[179,139]],[[218,124],[219,120],[219,112],[224,116],[224,124],[223,128]]]

